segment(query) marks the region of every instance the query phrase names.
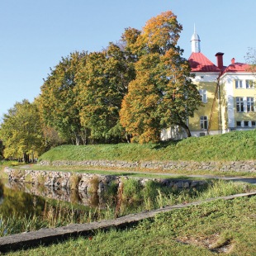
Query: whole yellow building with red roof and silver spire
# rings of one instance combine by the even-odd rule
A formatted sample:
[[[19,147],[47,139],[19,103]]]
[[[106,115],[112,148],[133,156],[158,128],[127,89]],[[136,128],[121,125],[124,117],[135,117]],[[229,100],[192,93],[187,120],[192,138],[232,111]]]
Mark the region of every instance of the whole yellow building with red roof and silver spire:
[[[248,64],[231,59],[223,64],[223,53],[216,54],[216,64],[201,53],[201,40],[192,35],[192,54],[188,62],[194,74],[192,82],[201,94],[202,107],[189,117],[192,136],[217,135],[231,130],[256,128],[255,73]],[[178,126],[163,130],[162,140],[183,139],[186,133]]]

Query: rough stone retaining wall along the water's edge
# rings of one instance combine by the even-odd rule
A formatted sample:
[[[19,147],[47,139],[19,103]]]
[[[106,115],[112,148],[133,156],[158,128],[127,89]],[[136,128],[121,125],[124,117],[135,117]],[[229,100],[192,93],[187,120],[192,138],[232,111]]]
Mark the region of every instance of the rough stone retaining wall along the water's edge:
[[[41,184],[46,187],[67,187],[78,189],[83,192],[101,193],[107,190],[111,183],[116,183],[118,187],[122,186],[124,180],[129,176],[102,175],[92,173],[66,173],[56,171],[35,171],[26,169],[5,168],[10,181],[19,183]],[[145,186],[149,180],[161,183],[163,186],[173,187],[176,189],[198,187],[206,181],[196,180],[177,180],[166,178],[135,178],[142,186]]]

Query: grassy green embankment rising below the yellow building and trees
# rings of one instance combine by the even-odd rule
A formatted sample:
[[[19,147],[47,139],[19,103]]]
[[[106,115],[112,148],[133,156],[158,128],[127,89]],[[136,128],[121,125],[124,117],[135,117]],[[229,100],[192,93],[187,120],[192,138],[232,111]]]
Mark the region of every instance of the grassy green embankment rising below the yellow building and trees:
[[[232,161],[256,159],[256,130],[188,138],[159,144],[63,145],[51,149],[40,160],[194,160]]]

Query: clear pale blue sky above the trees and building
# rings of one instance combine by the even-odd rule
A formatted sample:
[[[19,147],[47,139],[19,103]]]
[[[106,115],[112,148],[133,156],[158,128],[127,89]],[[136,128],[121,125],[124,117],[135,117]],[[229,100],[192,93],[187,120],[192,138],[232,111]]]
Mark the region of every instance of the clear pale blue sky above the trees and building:
[[[43,79],[73,51],[101,51],[128,27],[172,11],[183,25],[178,45],[191,55],[196,26],[201,53],[216,64],[244,62],[256,46],[255,0],[0,0],[0,122],[16,102],[40,94]]]

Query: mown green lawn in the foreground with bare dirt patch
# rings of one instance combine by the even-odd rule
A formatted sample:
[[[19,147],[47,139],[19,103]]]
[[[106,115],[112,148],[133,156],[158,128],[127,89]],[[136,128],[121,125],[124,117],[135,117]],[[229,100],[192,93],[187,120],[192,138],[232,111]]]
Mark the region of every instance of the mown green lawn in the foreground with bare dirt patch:
[[[256,197],[212,201],[159,214],[126,230],[98,231],[7,255],[255,255],[255,212]]]

